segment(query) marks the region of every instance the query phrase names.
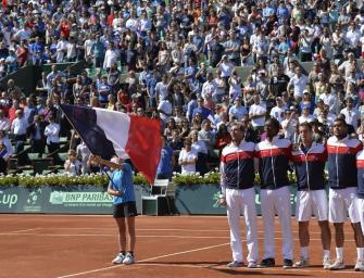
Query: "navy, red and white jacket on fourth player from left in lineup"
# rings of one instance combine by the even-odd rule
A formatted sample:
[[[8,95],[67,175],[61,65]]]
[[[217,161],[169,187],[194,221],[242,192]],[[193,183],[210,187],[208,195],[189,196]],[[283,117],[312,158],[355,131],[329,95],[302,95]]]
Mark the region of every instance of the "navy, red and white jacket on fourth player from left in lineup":
[[[357,186],[356,153],[363,149],[357,139],[349,136],[338,140],[335,136],[327,140],[328,185],[332,189]]]

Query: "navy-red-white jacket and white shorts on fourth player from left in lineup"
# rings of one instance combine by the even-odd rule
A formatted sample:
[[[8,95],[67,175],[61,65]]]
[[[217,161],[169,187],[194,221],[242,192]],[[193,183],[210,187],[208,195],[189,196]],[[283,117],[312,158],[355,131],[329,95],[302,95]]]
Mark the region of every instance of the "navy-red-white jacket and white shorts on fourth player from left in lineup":
[[[356,153],[363,149],[357,139],[349,136],[338,140],[335,136],[327,141],[328,185],[329,189],[329,222],[344,223],[347,215],[351,223],[359,223],[356,210]]]

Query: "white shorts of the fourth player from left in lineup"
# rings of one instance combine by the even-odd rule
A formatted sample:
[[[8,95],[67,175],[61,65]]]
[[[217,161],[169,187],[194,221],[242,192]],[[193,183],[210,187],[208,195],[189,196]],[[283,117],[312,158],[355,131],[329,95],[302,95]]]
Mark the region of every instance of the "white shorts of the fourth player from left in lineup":
[[[328,193],[328,218],[330,223],[344,223],[348,214],[351,223],[359,223],[356,187],[330,188]]]

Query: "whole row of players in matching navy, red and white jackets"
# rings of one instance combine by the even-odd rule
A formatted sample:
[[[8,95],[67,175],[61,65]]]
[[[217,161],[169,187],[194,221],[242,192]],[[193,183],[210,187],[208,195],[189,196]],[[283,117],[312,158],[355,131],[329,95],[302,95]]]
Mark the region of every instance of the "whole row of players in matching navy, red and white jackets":
[[[279,139],[279,123],[266,121],[266,139],[260,143],[244,140],[244,127],[237,123],[230,128],[233,142],[222,153],[221,204],[226,206],[230,228],[233,261],[228,267],[244,266],[241,244],[240,215],[243,215],[247,240],[247,267],[275,266],[275,215],[283,232],[284,268],[310,266],[309,223],[315,216],[321,228],[324,269],[343,269],[343,225],[349,215],[356,244],[354,270],[364,271],[364,152],[360,140],[348,135],[344,119],[334,123],[334,136],[327,143],[313,140],[312,126],[299,125],[301,142],[292,146]],[[325,181],[325,165],[328,181]],[[297,175],[296,219],[299,223],[300,258],[293,262],[291,203],[287,170],[290,165]],[[258,225],[255,211],[254,175],[261,178],[261,207],[263,217],[263,257],[259,263]],[[326,185],[328,182],[328,193]],[[330,260],[331,231],[336,258]],[[350,258],[352,261],[352,258]]]

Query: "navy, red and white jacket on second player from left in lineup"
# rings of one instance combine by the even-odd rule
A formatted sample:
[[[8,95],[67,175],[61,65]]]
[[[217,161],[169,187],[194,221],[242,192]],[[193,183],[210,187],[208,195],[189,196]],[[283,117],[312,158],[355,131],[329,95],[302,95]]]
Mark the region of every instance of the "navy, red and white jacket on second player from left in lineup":
[[[262,189],[278,189],[289,185],[287,170],[291,149],[289,140],[278,137],[274,137],[272,142],[265,139],[255,146]]]

